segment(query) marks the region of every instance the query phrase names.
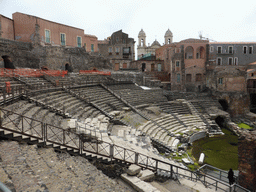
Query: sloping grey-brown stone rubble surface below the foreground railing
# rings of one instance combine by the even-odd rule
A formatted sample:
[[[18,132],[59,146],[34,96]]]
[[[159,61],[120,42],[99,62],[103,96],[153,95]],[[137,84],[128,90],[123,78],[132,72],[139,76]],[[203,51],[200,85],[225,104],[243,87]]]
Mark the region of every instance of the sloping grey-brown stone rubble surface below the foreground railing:
[[[15,141],[0,142],[0,181],[13,191],[132,191],[83,157]]]

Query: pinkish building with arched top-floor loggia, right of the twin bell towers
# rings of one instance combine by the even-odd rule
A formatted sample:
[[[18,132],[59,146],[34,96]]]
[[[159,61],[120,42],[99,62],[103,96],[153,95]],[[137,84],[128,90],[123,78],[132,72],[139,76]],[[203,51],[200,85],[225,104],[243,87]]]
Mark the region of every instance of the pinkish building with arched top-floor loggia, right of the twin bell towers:
[[[186,39],[156,50],[156,58],[165,61],[172,90],[202,91],[205,88],[207,44],[207,40]]]

